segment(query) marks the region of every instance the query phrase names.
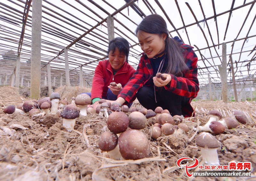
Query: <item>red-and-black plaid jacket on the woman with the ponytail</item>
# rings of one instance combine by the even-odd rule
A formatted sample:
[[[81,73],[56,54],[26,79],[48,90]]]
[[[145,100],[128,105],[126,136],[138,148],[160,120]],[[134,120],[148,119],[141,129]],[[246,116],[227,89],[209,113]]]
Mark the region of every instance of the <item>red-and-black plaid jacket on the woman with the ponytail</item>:
[[[172,80],[164,88],[174,94],[185,96],[192,101],[193,98],[197,96],[199,91],[199,82],[197,79],[197,56],[193,50],[194,47],[186,44],[180,45],[184,51],[182,52],[185,59],[185,62],[189,68],[189,72],[183,72],[183,75],[186,77],[176,77],[171,75]],[[122,97],[127,102],[133,102],[135,100],[135,94],[142,86],[152,86],[149,85],[149,82],[153,82],[153,69],[150,64],[150,60],[146,54],[142,54],[140,58],[140,63],[137,67],[136,72],[133,74],[129,82],[124,86],[118,97]],[[151,80],[151,81],[149,81]],[[190,104],[184,108],[184,112],[187,112],[187,115],[184,117],[190,117],[193,113],[193,108]]]

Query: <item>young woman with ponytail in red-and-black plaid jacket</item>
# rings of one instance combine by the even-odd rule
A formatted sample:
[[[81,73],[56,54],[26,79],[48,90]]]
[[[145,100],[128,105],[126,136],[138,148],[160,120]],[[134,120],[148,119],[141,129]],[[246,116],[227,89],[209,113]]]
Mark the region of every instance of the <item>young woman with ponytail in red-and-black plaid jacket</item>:
[[[136,29],[144,53],[136,72],[118,94],[116,101],[132,102],[137,96],[140,104],[155,110],[160,106],[172,116],[193,116],[190,102],[197,96],[197,56],[193,47],[178,37],[168,36],[167,25],[160,15],[149,15]],[[166,80],[156,77],[161,72]]]

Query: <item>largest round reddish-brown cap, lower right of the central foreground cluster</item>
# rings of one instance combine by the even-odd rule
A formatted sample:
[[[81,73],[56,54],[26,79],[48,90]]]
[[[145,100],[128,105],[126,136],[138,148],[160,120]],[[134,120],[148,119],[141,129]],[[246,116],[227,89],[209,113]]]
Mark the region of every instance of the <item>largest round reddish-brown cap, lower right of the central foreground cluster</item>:
[[[150,147],[147,137],[139,130],[126,130],[118,138],[122,157],[126,160],[137,160],[149,156]]]

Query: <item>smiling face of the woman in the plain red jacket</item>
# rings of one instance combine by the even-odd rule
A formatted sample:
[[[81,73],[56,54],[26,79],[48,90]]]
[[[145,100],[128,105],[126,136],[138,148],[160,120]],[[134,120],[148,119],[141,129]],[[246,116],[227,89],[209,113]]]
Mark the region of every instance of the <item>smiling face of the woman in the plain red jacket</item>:
[[[114,52],[109,52],[108,60],[114,72],[117,72],[123,66],[126,58],[127,57],[124,55],[124,53],[120,53],[117,48]]]

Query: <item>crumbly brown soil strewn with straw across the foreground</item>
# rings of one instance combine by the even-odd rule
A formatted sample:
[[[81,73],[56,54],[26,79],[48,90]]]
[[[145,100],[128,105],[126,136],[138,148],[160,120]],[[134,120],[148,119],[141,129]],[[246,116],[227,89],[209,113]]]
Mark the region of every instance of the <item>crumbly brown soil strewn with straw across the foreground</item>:
[[[216,102],[216,106],[217,104]],[[200,105],[200,102],[197,105]],[[189,139],[194,135],[198,123],[202,122],[203,125],[204,120],[208,119],[204,112],[197,112],[196,117],[184,119],[183,122],[190,128],[186,135],[173,134],[157,140],[150,139],[150,128],[155,123],[151,118],[148,126],[142,130],[150,140],[149,158],[116,161],[110,159],[107,152],[102,152],[98,148],[98,139],[103,132],[108,131],[108,128],[106,119],[96,113],[78,117],[75,131],[68,132],[62,127],[62,118],[57,115],[8,115],[2,111],[4,105],[0,106],[0,180],[3,181],[256,179],[254,116],[248,117],[250,124],[246,126],[226,129],[224,133],[215,135],[220,145],[220,165],[228,165],[231,161],[252,162],[252,177],[188,178],[185,169],[178,168],[176,162],[181,157],[196,157],[201,163],[200,148],[195,144],[196,137],[191,141]],[[255,108],[256,104],[252,102],[250,109],[255,111]],[[90,135],[86,132],[89,128],[94,131]],[[193,170],[195,169],[189,171]]]

